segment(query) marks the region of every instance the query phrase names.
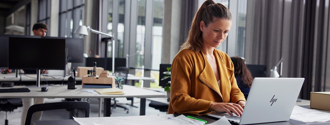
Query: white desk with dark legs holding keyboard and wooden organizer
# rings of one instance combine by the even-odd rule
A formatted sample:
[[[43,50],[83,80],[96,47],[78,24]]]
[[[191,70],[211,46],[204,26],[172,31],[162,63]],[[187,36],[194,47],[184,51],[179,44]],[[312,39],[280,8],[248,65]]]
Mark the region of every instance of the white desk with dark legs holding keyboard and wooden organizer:
[[[141,98],[140,103],[140,115],[146,114],[146,98],[150,97],[166,97],[166,94],[154,92],[151,90],[146,90],[142,88],[137,88],[134,86],[124,85],[123,91],[128,92],[128,94],[122,95],[99,95],[92,94],[82,91],[81,85],[76,85],[77,89],[68,90],[67,86],[51,86],[48,92],[41,92],[40,88],[29,88],[31,92],[29,93],[0,93],[0,98],[99,98],[100,103],[102,104],[102,98],[104,98],[104,116],[110,116],[111,112],[111,98],[120,98],[120,97],[138,97]],[[91,88],[89,88],[91,89]],[[95,88],[92,88],[95,89]],[[100,116],[100,112],[99,112]]]

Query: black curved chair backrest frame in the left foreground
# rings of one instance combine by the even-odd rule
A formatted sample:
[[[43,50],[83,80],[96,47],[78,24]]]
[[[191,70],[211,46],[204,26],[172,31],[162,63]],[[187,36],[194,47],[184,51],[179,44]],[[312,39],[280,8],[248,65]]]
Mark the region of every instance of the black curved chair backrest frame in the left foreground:
[[[25,125],[31,124],[32,115],[35,112],[58,110],[58,109],[84,109],[85,117],[89,117],[89,103],[86,101],[72,101],[72,102],[52,102],[32,105],[27,111]]]

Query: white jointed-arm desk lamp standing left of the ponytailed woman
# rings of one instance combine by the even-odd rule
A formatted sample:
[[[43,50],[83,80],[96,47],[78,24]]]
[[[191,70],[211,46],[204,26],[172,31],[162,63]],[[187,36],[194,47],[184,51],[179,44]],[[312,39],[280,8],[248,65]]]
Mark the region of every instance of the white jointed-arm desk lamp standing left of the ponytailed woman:
[[[114,36],[101,32],[101,31],[93,30],[89,26],[78,26],[76,31],[73,33],[80,34],[80,35],[88,35],[87,30],[90,32],[96,33],[96,34],[106,35],[106,36],[109,36],[110,38],[113,38],[113,41],[112,41],[112,73],[114,74],[115,73],[115,39],[114,39]]]

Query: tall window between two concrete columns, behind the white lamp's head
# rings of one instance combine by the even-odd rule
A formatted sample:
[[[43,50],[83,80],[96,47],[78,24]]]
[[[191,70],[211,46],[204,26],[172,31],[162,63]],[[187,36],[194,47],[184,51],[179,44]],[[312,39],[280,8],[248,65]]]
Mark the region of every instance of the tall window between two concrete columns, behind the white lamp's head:
[[[84,0],[60,0],[59,37],[82,37],[73,31],[83,24],[84,3]]]

